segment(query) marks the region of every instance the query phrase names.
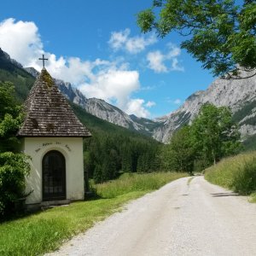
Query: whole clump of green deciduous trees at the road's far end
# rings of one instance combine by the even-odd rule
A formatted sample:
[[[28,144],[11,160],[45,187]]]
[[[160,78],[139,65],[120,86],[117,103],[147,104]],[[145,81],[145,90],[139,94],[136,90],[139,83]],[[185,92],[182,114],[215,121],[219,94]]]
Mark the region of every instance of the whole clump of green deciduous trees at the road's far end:
[[[191,125],[176,131],[162,148],[162,170],[201,172],[228,155],[241,150],[240,134],[228,108],[212,104],[201,107]]]

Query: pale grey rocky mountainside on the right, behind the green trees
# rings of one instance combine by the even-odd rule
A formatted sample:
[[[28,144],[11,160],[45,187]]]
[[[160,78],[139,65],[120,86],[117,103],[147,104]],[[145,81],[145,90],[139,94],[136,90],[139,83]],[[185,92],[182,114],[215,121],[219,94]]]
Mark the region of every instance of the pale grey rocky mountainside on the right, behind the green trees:
[[[249,75],[249,73],[248,73]],[[172,133],[193,120],[201,105],[229,107],[239,123],[242,137],[256,133],[256,76],[249,79],[217,79],[207,90],[189,96],[177,111],[155,121],[161,125],[154,130],[154,138],[166,143]]]

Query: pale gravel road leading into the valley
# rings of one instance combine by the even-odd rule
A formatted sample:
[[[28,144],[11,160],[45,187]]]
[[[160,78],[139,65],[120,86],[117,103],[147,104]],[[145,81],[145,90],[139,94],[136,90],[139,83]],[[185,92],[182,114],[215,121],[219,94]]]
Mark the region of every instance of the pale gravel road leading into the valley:
[[[132,201],[48,255],[256,255],[256,205],[204,177]]]

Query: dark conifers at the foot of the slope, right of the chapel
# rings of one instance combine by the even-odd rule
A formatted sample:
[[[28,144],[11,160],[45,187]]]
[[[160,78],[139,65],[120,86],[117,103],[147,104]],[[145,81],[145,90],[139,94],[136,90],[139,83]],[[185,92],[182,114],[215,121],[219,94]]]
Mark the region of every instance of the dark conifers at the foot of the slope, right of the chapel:
[[[119,176],[119,172],[158,171],[156,164],[160,143],[144,137],[127,137],[125,134],[93,132],[93,137],[84,140],[88,164],[86,172],[96,183]]]

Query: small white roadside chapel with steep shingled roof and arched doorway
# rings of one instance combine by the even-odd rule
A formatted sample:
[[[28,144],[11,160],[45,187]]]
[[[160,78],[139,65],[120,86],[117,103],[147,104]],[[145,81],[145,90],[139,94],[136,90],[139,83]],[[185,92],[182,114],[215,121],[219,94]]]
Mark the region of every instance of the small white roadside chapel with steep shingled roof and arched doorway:
[[[31,156],[26,177],[27,207],[84,199],[82,125],[45,68],[25,102],[26,119],[18,132],[21,151]]]

